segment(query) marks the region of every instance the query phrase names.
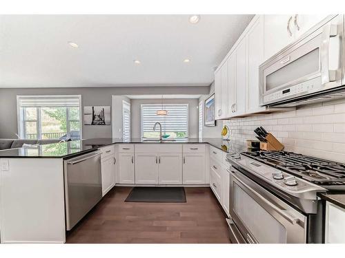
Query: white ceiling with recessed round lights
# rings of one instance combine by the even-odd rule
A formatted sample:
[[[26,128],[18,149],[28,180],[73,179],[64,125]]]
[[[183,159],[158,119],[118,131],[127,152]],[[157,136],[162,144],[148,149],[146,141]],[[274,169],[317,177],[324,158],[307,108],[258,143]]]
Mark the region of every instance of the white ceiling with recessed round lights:
[[[253,15],[188,17],[1,15],[0,87],[210,85]]]

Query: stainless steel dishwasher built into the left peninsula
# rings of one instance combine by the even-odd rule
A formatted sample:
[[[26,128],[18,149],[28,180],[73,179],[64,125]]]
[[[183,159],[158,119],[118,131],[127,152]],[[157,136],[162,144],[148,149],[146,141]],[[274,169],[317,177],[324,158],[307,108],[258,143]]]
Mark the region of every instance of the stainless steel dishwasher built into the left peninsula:
[[[63,162],[66,230],[72,229],[102,198],[101,153],[93,151]]]

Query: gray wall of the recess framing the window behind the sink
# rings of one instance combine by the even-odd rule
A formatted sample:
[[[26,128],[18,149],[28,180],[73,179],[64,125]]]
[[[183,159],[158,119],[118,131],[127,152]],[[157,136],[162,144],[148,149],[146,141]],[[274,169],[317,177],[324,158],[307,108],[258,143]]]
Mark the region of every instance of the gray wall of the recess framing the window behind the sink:
[[[181,98],[181,99],[164,99],[164,104],[188,104],[188,137],[198,137],[198,100]],[[161,99],[132,99],[130,101],[130,136],[132,138],[141,137],[141,104],[161,104]]]

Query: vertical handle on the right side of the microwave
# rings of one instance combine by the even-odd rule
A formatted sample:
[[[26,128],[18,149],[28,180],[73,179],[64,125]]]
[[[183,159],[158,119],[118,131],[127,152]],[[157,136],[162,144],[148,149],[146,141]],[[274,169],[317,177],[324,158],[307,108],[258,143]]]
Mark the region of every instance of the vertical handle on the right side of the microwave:
[[[324,26],[322,32],[321,43],[321,73],[322,73],[322,85],[336,80],[336,71],[329,69],[329,52],[330,52],[330,40],[333,36],[337,36],[337,25],[327,24]]]

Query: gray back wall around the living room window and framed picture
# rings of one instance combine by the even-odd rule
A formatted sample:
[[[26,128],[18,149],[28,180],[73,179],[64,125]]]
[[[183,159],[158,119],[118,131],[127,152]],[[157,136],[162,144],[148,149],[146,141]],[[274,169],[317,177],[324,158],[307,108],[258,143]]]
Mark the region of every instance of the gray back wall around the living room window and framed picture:
[[[0,88],[0,138],[17,138],[17,95],[81,95],[81,105],[111,106],[112,95],[206,94],[208,87]],[[83,109],[83,108],[82,108]],[[83,125],[83,138],[112,137],[111,125]]]

